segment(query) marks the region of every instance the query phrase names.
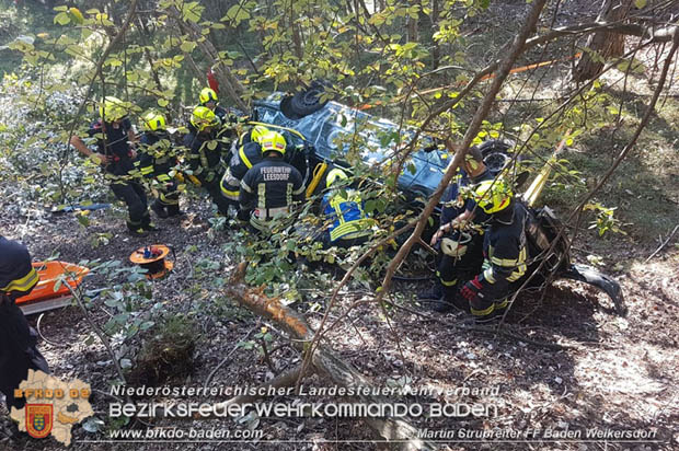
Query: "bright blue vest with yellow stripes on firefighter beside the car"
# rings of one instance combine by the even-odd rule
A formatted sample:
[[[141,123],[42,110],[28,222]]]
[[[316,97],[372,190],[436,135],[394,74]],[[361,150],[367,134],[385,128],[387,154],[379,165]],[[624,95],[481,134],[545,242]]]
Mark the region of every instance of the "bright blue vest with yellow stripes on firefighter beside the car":
[[[330,242],[353,240],[372,233],[375,221],[364,211],[360,194],[355,189],[333,189],[323,196],[321,209],[331,222]]]

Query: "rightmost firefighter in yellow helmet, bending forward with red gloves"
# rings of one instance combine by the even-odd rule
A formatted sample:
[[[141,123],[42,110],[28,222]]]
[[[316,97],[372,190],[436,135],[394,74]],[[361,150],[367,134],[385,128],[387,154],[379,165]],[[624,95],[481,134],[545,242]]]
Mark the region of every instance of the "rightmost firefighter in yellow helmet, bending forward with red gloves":
[[[483,268],[460,290],[477,323],[502,315],[507,308],[510,284],[527,269],[526,207],[515,200],[502,180],[482,182],[473,192],[486,215],[488,227],[483,241]]]

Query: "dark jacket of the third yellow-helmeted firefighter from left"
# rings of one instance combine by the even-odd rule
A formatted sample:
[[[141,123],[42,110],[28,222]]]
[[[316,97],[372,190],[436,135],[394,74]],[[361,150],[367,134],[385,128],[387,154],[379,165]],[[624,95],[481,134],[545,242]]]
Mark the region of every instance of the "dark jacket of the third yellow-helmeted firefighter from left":
[[[184,147],[187,149],[186,162],[200,182],[212,183],[223,174],[221,162],[223,144],[212,139],[211,135],[191,131],[184,137]]]

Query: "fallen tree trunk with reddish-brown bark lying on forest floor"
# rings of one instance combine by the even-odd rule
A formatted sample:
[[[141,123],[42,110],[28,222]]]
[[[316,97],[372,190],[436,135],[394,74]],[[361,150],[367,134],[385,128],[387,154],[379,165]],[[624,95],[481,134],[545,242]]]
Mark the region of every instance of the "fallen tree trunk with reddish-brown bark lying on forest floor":
[[[243,276],[248,264],[241,263],[231,279],[229,286],[223,290],[225,294],[235,300],[240,305],[245,307],[252,312],[275,322],[283,328],[295,346],[301,351],[307,351],[309,343],[313,339],[314,331],[309,326],[307,320],[296,310],[283,304],[276,298],[268,298],[262,289],[252,289],[243,284]],[[373,392],[375,386],[354,367],[343,361],[325,346],[320,345],[311,358],[312,367],[310,372],[315,372],[321,377],[330,379],[333,383],[345,388],[365,388],[365,392]],[[294,386],[300,375],[301,368],[295,368],[285,374],[276,378],[262,386]],[[365,404],[388,403],[384,396],[362,394],[362,390],[357,390],[358,402]],[[233,404],[252,402],[256,396],[237,396],[223,403],[216,404],[214,410],[220,410]],[[436,450],[435,443],[417,438],[418,429],[407,421],[393,418],[364,418],[366,423],[375,429],[382,438],[393,441],[402,450]]]

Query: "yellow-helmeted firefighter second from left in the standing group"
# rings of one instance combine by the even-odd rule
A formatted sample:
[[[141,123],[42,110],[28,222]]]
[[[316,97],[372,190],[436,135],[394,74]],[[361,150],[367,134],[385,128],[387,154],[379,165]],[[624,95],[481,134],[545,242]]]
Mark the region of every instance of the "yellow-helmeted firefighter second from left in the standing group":
[[[166,130],[165,116],[149,112],[142,118],[143,134],[139,139],[139,158],[135,162],[139,173],[151,181],[158,197],[151,204],[151,210],[159,218],[179,216],[179,185],[170,172],[177,164],[176,154]]]

